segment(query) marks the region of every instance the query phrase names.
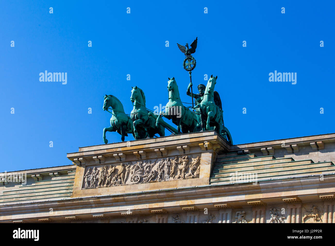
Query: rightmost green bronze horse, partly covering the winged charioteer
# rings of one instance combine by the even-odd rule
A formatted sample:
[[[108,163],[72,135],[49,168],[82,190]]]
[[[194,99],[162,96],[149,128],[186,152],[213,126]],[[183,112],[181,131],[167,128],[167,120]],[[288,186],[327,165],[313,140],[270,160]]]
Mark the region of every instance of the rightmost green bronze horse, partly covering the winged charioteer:
[[[217,91],[214,91],[216,77],[210,76],[203,98],[194,108],[200,108],[201,127],[203,131],[215,130],[223,136],[228,143],[232,144],[232,139],[227,128],[223,124],[222,103]]]

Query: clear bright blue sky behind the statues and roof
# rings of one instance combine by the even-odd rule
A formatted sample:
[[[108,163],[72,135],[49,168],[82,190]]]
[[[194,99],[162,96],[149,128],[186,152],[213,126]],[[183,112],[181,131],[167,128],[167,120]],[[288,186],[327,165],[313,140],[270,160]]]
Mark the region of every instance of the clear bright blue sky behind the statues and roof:
[[[191,102],[176,43],[195,37],[193,88],[218,76],[234,144],[335,132],[334,1],[3,1],[0,12],[0,171],[69,165],[66,153],[103,144],[105,94],[130,113],[137,85],[153,109],[175,77]],[[40,82],[45,70],[67,72],[67,84]],[[297,83],[269,82],[275,70],[296,72]]]

